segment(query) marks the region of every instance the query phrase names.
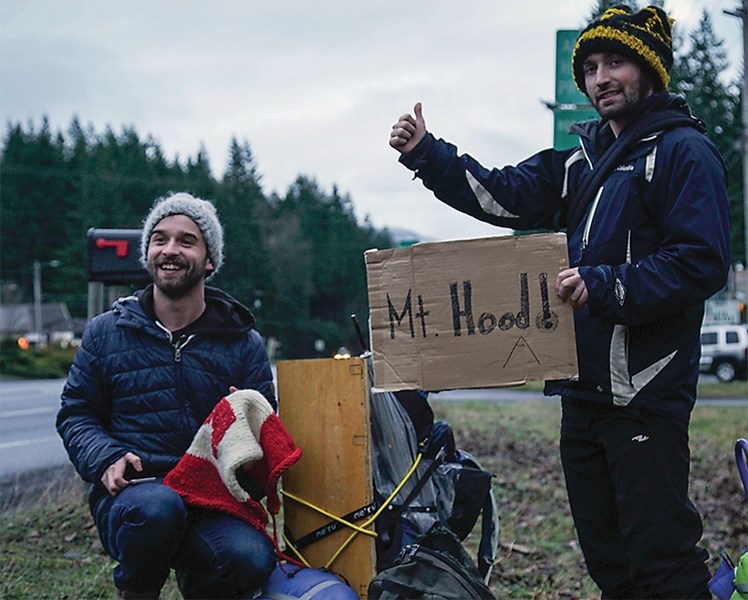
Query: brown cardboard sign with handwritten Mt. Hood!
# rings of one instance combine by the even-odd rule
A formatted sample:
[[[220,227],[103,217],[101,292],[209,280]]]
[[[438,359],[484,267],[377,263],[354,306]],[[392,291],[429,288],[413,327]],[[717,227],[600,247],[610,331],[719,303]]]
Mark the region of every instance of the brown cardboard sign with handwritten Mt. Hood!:
[[[561,233],[368,251],[374,385],[520,385],[577,374],[572,308],[556,295]]]

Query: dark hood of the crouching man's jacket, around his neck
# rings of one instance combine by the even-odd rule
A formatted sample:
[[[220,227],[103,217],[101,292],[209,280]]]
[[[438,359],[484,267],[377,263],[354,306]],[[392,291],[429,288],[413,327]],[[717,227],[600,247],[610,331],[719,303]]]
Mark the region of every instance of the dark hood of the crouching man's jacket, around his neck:
[[[159,336],[163,335],[155,322],[153,284],[132,296],[120,298],[112,305],[112,310],[119,315],[123,325],[149,329]],[[254,327],[254,315],[244,304],[211,286],[205,286],[205,312],[188,326],[190,333],[220,337],[243,335]]]

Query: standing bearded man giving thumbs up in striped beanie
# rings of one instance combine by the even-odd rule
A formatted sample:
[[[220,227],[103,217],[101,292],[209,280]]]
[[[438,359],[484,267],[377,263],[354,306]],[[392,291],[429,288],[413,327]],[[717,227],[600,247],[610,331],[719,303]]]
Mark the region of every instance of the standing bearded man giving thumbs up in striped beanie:
[[[671,21],[606,11],[581,33],[577,86],[600,114],[580,145],[488,170],[426,131],[420,104],[390,145],[443,202],[514,229],[566,229],[556,279],[575,309],[579,377],[562,397],[561,460],[590,575],[606,598],[709,598],[688,498],[704,300],[729,266],[726,171],[668,93]]]

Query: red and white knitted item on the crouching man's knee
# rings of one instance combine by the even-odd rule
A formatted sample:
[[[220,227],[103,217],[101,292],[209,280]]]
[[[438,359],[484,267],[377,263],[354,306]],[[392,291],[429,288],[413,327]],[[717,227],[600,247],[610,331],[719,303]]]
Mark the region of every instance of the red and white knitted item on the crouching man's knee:
[[[188,505],[228,513],[264,531],[267,512],[239,484],[237,469],[262,486],[267,510],[276,515],[278,480],[299,458],[301,450],[265,397],[237,390],[208,415],[164,484]]]

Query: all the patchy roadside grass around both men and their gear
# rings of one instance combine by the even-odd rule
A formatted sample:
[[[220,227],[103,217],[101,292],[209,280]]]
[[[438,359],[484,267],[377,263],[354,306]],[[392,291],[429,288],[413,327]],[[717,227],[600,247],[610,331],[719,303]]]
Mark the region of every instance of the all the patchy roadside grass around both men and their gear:
[[[452,424],[459,447],[496,475],[501,551],[491,588],[497,597],[599,597],[568,511],[558,459],[558,404],[435,403],[434,409]],[[732,458],[739,437],[748,437],[744,407],[697,406],[691,491],[704,516],[703,544],[712,568],[720,550],[736,555],[748,547],[748,507]],[[113,563],[102,552],[83,486],[70,470],[42,473],[15,490],[6,487],[3,498],[0,598],[113,596]],[[173,581],[161,597],[180,597]]]

